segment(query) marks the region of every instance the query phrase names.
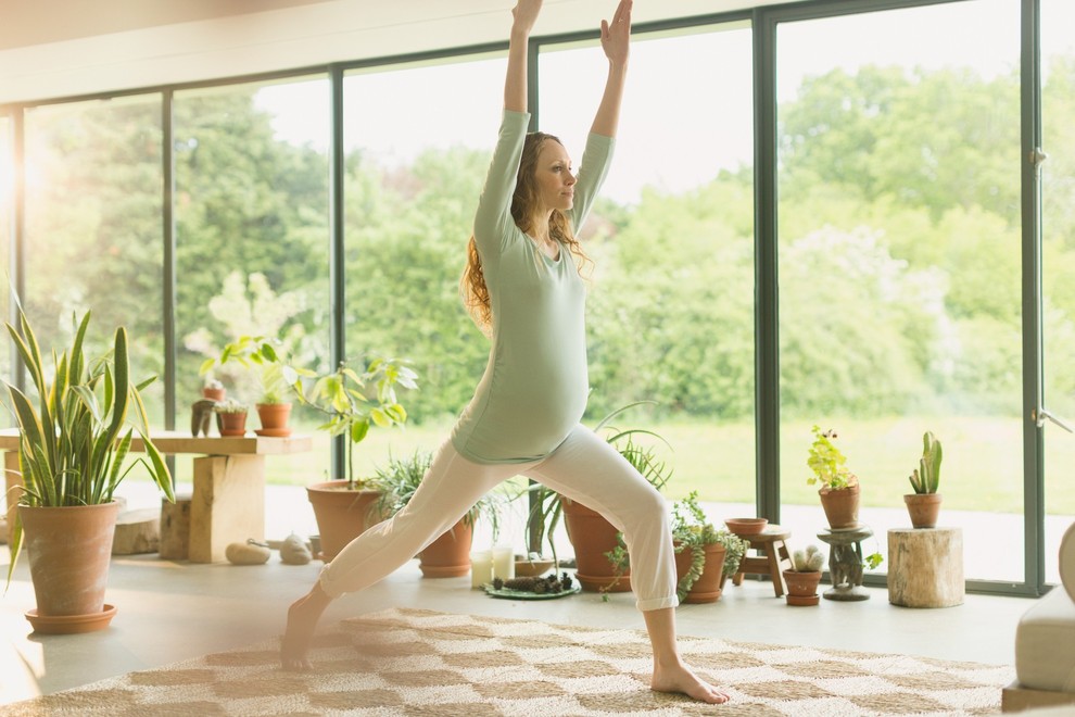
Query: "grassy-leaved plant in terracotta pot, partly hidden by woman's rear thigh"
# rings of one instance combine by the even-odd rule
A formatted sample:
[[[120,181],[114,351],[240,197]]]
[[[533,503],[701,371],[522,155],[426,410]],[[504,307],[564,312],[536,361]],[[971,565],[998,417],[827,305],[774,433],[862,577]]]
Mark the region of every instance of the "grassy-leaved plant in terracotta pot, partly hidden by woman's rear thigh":
[[[404,508],[414,496],[433,462],[429,451],[416,450],[407,458],[389,457],[388,465],[375,470],[366,486],[380,491],[375,512],[388,518]],[[493,540],[499,534],[499,510],[493,495],[484,495],[447,532],[418,554],[421,574],[427,578],[454,578],[470,573],[470,548],[475,524],[486,520]]]

